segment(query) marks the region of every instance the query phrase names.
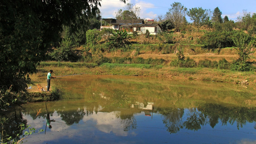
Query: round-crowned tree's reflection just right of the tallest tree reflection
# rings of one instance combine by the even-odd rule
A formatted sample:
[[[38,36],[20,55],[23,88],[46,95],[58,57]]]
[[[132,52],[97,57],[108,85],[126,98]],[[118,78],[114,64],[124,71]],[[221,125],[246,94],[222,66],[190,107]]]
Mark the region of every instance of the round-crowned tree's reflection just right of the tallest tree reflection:
[[[206,116],[198,112],[196,108],[190,109],[190,116],[183,123],[188,130],[199,130],[206,122]]]

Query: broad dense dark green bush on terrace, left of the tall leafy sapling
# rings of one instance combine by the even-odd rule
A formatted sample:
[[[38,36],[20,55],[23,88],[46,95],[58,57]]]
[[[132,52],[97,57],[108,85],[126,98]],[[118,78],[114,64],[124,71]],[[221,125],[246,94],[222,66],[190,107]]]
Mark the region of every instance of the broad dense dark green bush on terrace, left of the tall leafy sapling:
[[[234,32],[206,32],[201,38],[200,43],[204,44],[205,48],[226,48],[234,46],[232,35]]]

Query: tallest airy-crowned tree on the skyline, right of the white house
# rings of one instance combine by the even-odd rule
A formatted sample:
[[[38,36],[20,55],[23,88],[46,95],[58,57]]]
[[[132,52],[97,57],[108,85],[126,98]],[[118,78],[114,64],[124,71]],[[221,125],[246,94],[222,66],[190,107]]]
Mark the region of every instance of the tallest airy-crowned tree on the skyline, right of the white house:
[[[166,19],[172,20],[176,32],[180,31],[180,27],[184,24],[184,18],[186,16],[187,8],[184,7],[180,2],[174,2],[171,4],[172,8],[166,12]]]

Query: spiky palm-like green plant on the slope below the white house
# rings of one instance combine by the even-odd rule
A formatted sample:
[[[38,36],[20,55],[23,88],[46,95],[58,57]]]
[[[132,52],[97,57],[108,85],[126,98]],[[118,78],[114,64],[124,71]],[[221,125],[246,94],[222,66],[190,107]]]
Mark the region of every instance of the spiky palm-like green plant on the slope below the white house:
[[[117,49],[127,50],[130,42],[130,36],[126,30],[117,31],[116,33],[112,33],[112,36],[108,39],[107,47],[108,51],[113,51]]]

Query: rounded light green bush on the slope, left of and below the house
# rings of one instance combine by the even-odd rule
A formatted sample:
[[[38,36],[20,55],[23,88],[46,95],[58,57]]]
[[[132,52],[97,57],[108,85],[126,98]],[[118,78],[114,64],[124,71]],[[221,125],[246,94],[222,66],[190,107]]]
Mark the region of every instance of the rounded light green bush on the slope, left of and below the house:
[[[86,44],[89,46],[94,46],[100,40],[100,32],[97,30],[87,30],[86,32]]]

